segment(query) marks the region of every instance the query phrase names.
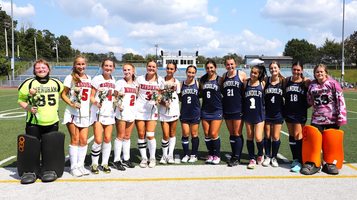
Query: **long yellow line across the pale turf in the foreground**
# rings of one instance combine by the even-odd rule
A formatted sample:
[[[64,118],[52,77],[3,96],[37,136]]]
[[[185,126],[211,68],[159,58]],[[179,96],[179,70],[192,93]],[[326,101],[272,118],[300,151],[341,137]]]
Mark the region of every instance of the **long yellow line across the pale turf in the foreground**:
[[[96,182],[96,181],[168,181],[168,180],[227,180],[227,179],[310,179],[310,178],[357,178],[357,175],[340,176],[287,176],[287,177],[195,177],[195,178],[154,178],[154,179],[57,179],[56,182]],[[41,180],[36,180],[41,182]],[[20,183],[20,180],[3,180],[0,183]]]

